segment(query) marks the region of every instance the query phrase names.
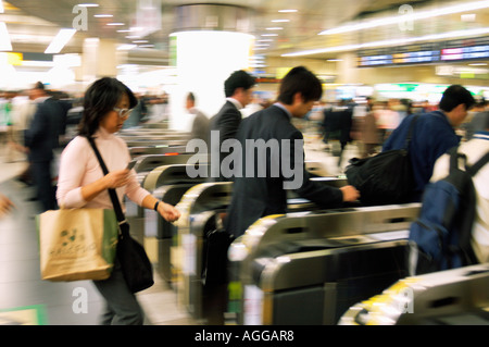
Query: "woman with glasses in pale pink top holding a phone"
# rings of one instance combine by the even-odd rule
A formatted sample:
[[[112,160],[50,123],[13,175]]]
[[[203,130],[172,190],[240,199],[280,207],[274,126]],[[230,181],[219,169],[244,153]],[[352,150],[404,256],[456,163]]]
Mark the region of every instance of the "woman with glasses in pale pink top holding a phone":
[[[113,209],[108,189],[114,188],[123,210],[124,196],[127,196],[143,208],[154,209],[166,221],[179,218],[178,210],[143,189],[135,171],[127,169],[130,161],[127,145],[115,134],[136,104],[134,94],[116,78],[103,77],[87,89],[78,136],[66,146],[60,159],[57,193],[60,207]],[[109,174],[103,174],[88,137],[95,139]],[[127,288],[117,259],[111,276],[95,281],[95,285],[106,300],[102,324],[142,324],[142,310]]]

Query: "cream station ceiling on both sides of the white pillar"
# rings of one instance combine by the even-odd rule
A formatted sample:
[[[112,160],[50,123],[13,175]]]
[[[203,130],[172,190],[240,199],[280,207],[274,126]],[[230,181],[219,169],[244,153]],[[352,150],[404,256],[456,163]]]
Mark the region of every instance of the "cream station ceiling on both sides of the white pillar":
[[[87,10],[86,28],[78,30],[64,47],[62,53],[82,52],[83,41],[88,37],[114,39],[131,44],[140,49],[168,52],[168,35],[176,27],[176,10],[181,5],[202,3],[201,0],[93,0],[98,4]],[[335,48],[359,42],[386,41],[398,37],[423,37],[426,35],[477,29],[489,26],[489,10],[455,11],[436,18],[404,23],[401,14],[422,13],[447,7],[473,4],[475,0],[251,0],[212,1],[217,5],[237,5],[249,10],[251,33],[256,38],[275,34],[259,47],[265,55],[283,55],[304,50]],[[478,1],[480,3],[488,1]],[[42,53],[60,28],[71,28],[80,12],[75,7],[80,0],[8,0],[2,1],[0,22],[5,23],[12,41],[12,51]],[[158,15],[148,15],[141,9],[156,9]],[[79,9],[79,8],[78,8]],[[283,13],[280,10],[297,10]],[[142,16],[141,16],[142,13]],[[110,14],[111,17],[96,17]],[[151,14],[151,12],[150,12]],[[350,23],[364,23],[375,18],[399,16],[391,24],[380,24],[343,34],[318,35]],[[151,17],[151,18],[150,18]],[[142,21],[141,21],[142,18]],[[154,21],[156,28],[142,37],[127,32],[140,23]],[[274,22],[279,21],[279,22]],[[281,22],[284,21],[284,22]],[[381,22],[381,21],[380,21]],[[120,25],[110,25],[120,23]],[[484,34],[482,34],[484,35]],[[485,34],[488,35],[488,34]],[[135,39],[136,38],[136,39]],[[435,39],[435,38],[434,38]],[[137,44],[135,44],[135,41]],[[268,46],[266,46],[268,45]],[[310,54],[305,58],[333,59],[337,52]]]

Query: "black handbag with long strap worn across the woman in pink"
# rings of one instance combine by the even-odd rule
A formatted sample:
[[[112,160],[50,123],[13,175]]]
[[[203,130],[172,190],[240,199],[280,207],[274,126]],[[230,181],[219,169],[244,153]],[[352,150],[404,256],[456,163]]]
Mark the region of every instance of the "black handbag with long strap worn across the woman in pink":
[[[93,138],[88,138],[97,159],[100,162],[103,174],[109,173]],[[129,234],[129,224],[122,211],[115,189],[108,189],[117,216],[120,235],[117,240],[116,257],[121,263],[124,280],[131,293],[137,293],[151,287],[154,284],[153,268],[145,248]]]

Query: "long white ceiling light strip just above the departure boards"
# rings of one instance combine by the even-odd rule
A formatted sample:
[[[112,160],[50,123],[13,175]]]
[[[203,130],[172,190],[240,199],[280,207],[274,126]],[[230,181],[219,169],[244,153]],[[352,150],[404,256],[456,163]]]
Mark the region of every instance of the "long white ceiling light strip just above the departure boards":
[[[384,41],[373,41],[373,42],[365,42],[365,44],[312,49],[312,50],[306,50],[306,51],[286,53],[286,54],[281,54],[281,57],[301,57],[301,55],[312,55],[312,54],[330,53],[330,52],[347,52],[347,51],[374,48],[374,47],[390,47],[390,46],[398,46],[398,45],[408,45],[408,44],[413,44],[413,42],[418,42],[418,41],[452,39],[452,38],[459,38],[459,37],[464,37],[464,36],[477,36],[477,35],[488,35],[488,34],[489,34],[489,27],[482,27],[482,28],[477,28],[477,29],[431,34],[431,35],[419,36],[419,37],[409,37],[409,38],[390,39],[390,40],[384,40]]]

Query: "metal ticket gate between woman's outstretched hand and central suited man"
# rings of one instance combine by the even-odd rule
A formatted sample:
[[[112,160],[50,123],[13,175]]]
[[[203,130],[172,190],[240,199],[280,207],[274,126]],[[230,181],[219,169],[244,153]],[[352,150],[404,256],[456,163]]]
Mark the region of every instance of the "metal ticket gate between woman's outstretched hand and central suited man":
[[[317,179],[333,186],[346,184],[346,181],[336,177]],[[184,195],[177,206],[183,215],[178,221],[178,251],[172,251],[172,253],[180,253],[177,261],[180,265],[173,265],[173,268],[178,272],[177,286],[180,303],[187,307],[196,320],[206,319],[208,312],[204,305],[209,297],[213,296],[205,295],[209,289],[204,267],[208,237],[212,235],[212,237],[225,238],[225,235],[218,235],[215,232],[223,228],[223,218],[231,199],[231,183],[197,185]],[[311,211],[317,207],[311,201],[289,194],[288,209]]]

